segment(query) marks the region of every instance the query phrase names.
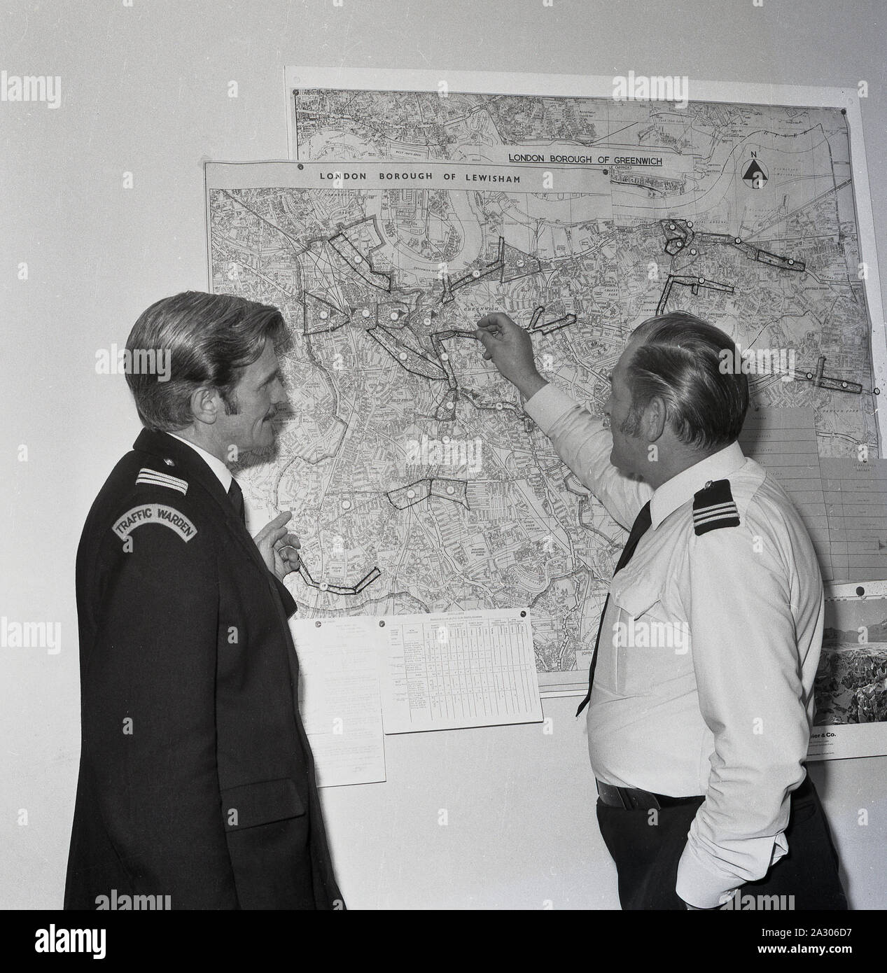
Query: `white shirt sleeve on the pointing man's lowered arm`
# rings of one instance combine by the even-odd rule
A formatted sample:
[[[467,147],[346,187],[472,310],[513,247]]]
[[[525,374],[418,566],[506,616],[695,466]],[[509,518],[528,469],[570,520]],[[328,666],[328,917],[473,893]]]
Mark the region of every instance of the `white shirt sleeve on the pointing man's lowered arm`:
[[[676,891],[711,909],[788,850],[809,724],[790,584],[773,545],[746,524],[711,530],[692,537],[690,568],[692,664],[714,752]]]

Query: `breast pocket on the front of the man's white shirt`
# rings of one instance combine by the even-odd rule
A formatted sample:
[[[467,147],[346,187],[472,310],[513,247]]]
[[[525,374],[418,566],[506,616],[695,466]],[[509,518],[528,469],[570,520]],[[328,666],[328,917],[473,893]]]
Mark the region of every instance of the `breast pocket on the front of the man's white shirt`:
[[[648,696],[690,665],[686,623],[669,619],[658,586],[638,583],[613,593],[616,687],[622,696]]]

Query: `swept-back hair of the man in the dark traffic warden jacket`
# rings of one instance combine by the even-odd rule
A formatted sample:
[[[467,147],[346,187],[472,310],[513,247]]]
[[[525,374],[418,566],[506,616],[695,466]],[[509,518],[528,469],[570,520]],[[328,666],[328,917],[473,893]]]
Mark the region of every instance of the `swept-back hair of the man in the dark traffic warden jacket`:
[[[185,291],[150,306],[129,332],[126,347],[157,355],[168,349],[169,376],[160,381],[155,373],[127,370],[142,424],[159,432],[191,425],[191,396],[200,385],[217,388],[226,412],[236,414],[234,386],[269,338],[275,344],[285,340],[283,316],[276,307],[245,298]]]

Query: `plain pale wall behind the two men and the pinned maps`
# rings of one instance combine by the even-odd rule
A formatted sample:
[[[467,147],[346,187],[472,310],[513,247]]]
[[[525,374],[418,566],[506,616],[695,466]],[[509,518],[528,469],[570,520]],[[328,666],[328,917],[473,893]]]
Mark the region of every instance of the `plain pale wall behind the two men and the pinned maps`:
[[[201,160],[286,157],[284,65],[865,79],[874,222],[887,223],[878,0],[132,2],[14,0],[0,36],[0,68],[60,75],[63,93],[55,111],[0,103],[0,615],[62,626],[57,655],[0,649],[4,908],[61,903],[79,751],[74,556],[138,431],[124,378],[96,376],[95,351],[122,344],[160,296],[206,288]],[[545,704],[550,737],[538,726],[389,737],[387,783],[324,791],[349,904],[618,907],[575,704]],[[887,758],[812,771],[857,908],[887,905],[885,771]]]

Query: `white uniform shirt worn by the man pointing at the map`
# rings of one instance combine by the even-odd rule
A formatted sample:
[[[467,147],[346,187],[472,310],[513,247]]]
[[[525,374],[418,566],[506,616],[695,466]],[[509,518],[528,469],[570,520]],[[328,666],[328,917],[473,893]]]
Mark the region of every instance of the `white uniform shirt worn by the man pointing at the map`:
[[[677,894],[714,908],[787,851],[789,794],[804,777],[823,585],[785,491],[732,443],[656,490],[610,462],[603,419],[546,385],[524,409],[626,529],[652,524],[613,579],[587,710],[605,783],[704,794]],[[739,526],[696,535],[693,494],[728,480]]]

